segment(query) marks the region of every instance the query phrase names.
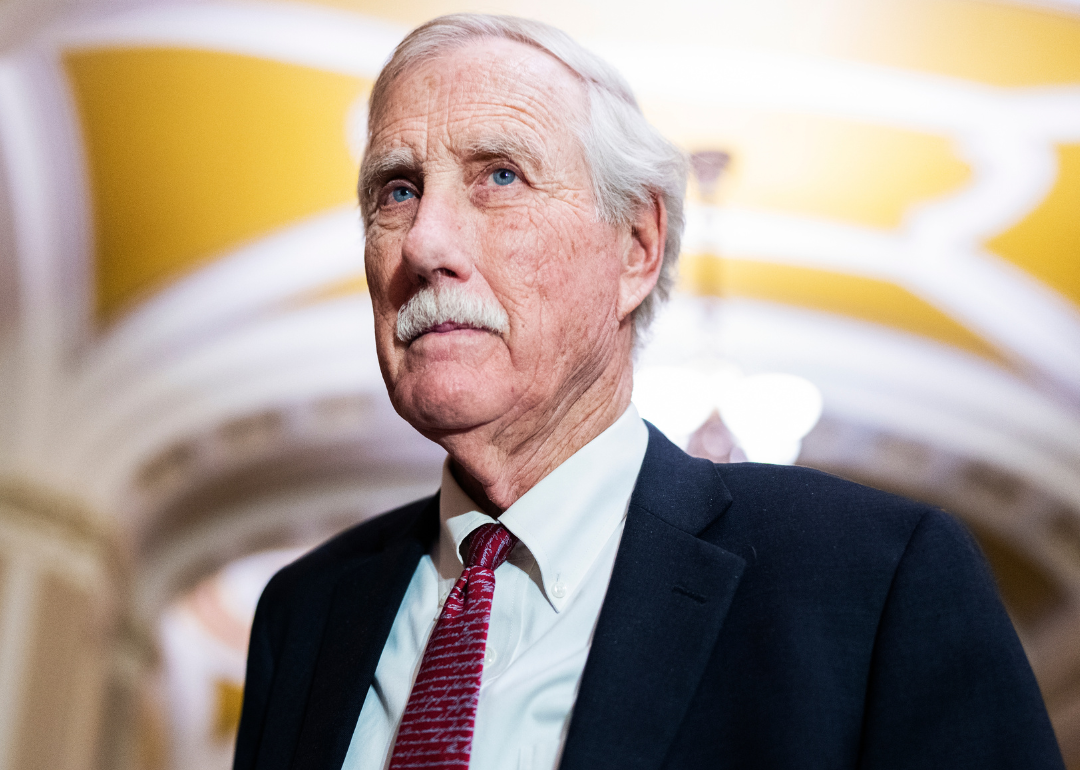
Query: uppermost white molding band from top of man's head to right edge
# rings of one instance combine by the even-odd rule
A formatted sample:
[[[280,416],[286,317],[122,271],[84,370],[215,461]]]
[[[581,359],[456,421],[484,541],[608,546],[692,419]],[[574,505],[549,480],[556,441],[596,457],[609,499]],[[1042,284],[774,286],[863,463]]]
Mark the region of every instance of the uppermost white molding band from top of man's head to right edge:
[[[584,41],[589,42],[589,41]],[[937,135],[987,129],[1080,137],[1080,85],[1000,87],[826,56],[732,46],[594,42],[638,98],[806,112]]]

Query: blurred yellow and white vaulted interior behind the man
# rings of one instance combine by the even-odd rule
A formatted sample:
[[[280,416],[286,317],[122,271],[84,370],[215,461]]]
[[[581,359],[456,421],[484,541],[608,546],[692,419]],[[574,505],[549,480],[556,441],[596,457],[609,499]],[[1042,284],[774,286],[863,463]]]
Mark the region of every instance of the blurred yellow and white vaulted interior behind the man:
[[[353,188],[459,10],[692,153],[643,415],[960,516],[1080,768],[1080,2],[0,0],[0,770],[229,767],[265,582],[436,488]]]

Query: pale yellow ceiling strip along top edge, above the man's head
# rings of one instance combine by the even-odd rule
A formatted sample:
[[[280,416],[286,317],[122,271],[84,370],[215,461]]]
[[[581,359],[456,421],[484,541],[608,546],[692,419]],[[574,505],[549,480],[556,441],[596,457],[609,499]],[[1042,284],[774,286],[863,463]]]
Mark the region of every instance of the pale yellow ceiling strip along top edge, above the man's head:
[[[456,11],[539,18],[576,36],[760,46],[994,85],[1080,81],[1080,16],[978,0],[312,0],[405,26]]]

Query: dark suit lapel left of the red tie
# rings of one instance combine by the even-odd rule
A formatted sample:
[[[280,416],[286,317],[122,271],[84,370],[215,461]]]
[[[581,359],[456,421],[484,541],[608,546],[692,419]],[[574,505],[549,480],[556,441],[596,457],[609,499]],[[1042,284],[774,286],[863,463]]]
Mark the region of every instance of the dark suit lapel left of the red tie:
[[[437,526],[438,498],[405,537],[338,579],[291,767],[339,770],[405,591]]]

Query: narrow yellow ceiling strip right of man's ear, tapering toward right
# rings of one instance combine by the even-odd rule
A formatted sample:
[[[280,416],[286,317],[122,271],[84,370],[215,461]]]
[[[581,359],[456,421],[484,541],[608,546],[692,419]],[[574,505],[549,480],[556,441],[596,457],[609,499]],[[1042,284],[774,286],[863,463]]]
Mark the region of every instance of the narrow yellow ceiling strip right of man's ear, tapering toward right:
[[[963,325],[895,284],[792,265],[686,254],[679,287],[698,295],[746,297],[839,313],[928,337],[996,363],[1001,354]]]

